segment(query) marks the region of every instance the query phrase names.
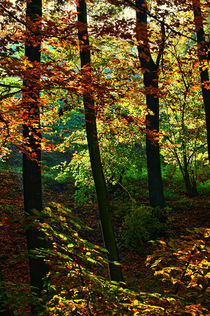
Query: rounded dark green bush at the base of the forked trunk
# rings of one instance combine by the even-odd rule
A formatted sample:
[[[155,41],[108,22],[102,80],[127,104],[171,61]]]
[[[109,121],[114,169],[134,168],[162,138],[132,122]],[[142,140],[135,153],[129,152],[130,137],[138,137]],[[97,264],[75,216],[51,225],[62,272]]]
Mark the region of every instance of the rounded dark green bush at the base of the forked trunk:
[[[154,211],[151,207],[141,206],[133,209],[125,216],[122,238],[126,247],[138,249],[146,241],[166,235],[166,223],[161,221],[158,213],[158,210]]]

